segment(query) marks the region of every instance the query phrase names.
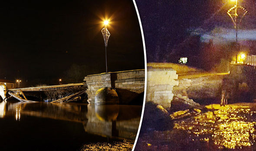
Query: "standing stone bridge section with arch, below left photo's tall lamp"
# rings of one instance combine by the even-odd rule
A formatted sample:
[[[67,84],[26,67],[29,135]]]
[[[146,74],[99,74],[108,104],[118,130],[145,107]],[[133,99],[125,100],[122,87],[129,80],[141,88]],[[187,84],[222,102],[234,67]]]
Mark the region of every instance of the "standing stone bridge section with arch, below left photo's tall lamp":
[[[84,82],[87,85],[88,102],[94,104],[98,89],[112,87],[118,93],[120,104],[128,104],[138,94],[144,92],[145,70],[128,70],[88,75]]]

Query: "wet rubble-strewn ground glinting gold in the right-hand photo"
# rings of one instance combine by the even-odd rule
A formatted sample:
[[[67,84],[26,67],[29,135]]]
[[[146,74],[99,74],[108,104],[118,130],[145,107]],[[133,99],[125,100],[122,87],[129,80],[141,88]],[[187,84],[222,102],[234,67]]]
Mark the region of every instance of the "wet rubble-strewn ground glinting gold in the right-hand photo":
[[[213,104],[207,108],[209,111],[196,110],[195,114],[191,111],[180,112],[190,116],[176,118],[172,122],[170,119],[172,128],[169,130],[154,130],[140,135],[136,150],[256,150],[256,104],[225,107]]]

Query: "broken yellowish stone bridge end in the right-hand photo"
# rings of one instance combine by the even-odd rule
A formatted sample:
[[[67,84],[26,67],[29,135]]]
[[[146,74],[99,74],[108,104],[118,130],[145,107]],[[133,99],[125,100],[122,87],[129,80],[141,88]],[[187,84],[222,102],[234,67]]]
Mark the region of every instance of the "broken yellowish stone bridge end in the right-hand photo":
[[[148,63],[146,101],[166,109],[173,99],[192,102],[212,101],[221,94],[222,80],[229,73],[205,72],[200,69],[174,63]],[[174,98],[175,97],[175,98]],[[190,100],[189,98],[193,99]]]

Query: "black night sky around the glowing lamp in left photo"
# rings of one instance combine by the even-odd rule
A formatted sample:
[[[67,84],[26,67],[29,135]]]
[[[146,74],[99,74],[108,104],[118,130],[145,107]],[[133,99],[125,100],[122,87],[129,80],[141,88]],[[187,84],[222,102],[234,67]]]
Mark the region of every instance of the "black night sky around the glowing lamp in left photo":
[[[1,2],[0,79],[59,79],[72,64],[105,72],[105,17],[111,19],[108,71],[144,69],[132,0]]]

